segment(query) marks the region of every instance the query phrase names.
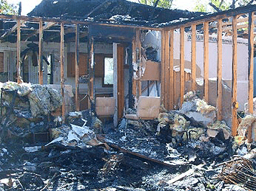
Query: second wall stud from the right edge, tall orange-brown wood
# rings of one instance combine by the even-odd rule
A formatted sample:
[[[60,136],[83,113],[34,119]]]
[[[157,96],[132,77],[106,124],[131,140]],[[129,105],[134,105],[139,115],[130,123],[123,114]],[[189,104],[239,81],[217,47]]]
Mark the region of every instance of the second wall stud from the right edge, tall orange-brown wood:
[[[232,136],[236,136],[238,128],[237,119],[237,77],[238,77],[238,31],[237,31],[237,16],[232,17],[232,31],[233,31],[233,54],[232,54]]]

